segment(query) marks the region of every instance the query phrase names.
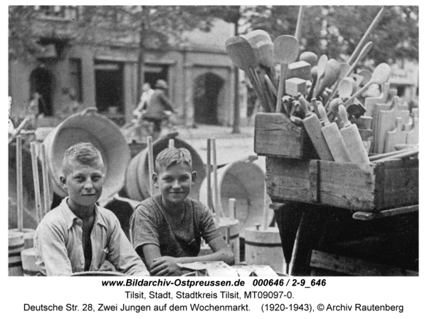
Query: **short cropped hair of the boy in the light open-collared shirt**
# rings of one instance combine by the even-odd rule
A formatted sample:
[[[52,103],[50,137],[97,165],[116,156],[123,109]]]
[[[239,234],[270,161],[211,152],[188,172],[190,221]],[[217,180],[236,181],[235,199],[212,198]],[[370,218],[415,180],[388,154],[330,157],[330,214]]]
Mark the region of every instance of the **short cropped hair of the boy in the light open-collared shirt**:
[[[71,161],[75,161],[83,165],[91,165],[97,161],[100,161],[100,163],[104,165],[101,152],[97,150],[97,148],[93,146],[92,143],[89,142],[75,144],[70,146],[68,150],[65,151],[63,158],[64,175],[66,174],[65,171]]]

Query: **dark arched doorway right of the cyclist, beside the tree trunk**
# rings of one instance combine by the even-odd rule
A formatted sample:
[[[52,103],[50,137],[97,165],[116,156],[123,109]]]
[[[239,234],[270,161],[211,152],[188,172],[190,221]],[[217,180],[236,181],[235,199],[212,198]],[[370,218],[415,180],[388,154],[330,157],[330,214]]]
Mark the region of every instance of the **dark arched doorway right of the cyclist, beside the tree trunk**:
[[[214,73],[204,73],[194,81],[194,122],[218,125],[218,97],[224,80]]]

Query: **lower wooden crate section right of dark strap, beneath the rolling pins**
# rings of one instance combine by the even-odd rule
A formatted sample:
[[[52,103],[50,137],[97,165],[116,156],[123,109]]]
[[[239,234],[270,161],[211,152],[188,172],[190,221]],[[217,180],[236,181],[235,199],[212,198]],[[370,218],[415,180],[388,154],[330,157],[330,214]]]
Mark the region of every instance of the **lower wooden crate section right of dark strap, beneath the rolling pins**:
[[[313,202],[352,211],[380,211],[418,203],[418,159],[369,164],[310,162]]]

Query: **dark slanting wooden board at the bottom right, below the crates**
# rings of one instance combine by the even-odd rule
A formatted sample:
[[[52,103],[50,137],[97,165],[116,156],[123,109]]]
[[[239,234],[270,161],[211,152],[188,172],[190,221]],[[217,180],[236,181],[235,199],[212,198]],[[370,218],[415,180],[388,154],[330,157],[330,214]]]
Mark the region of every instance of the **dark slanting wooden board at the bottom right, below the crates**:
[[[316,250],[312,251],[310,266],[349,276],[418,276],[416,271]]]

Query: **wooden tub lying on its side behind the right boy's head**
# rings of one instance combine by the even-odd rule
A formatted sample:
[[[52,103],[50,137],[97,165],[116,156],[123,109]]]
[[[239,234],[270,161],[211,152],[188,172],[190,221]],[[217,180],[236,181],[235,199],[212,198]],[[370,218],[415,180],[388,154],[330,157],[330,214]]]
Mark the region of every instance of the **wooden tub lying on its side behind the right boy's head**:
[[[161,140],[157,140],[153,143],[153,157],[154,162],[157,155],[162,150],[169,147],[170,137],[164,137]],[[197,172],[196,183],[191,187],[191,192],[189,197],[192,199],[199,199],[199,192],[201,187],[201,182],[206,177],[206,169],[203,160],[199,154],[194,150],[191,145],[187,144],[183,140],[179,140],[176,137],[173,137],[174,145],[176,148],[184,147],[189,150],[191,154],[191,160],[193,161],[193,170]],[[149,193],[149,176],[148,171],[148,148],[145,148],[138,155],[132,158],[129,166],[127,167],[126,172],[126,184],[125,190],[127,196],[130,199],[135,201],[142,201],[143,199],[149,198],[151,194]],[[155,194],[158,194],[156,189]]]

